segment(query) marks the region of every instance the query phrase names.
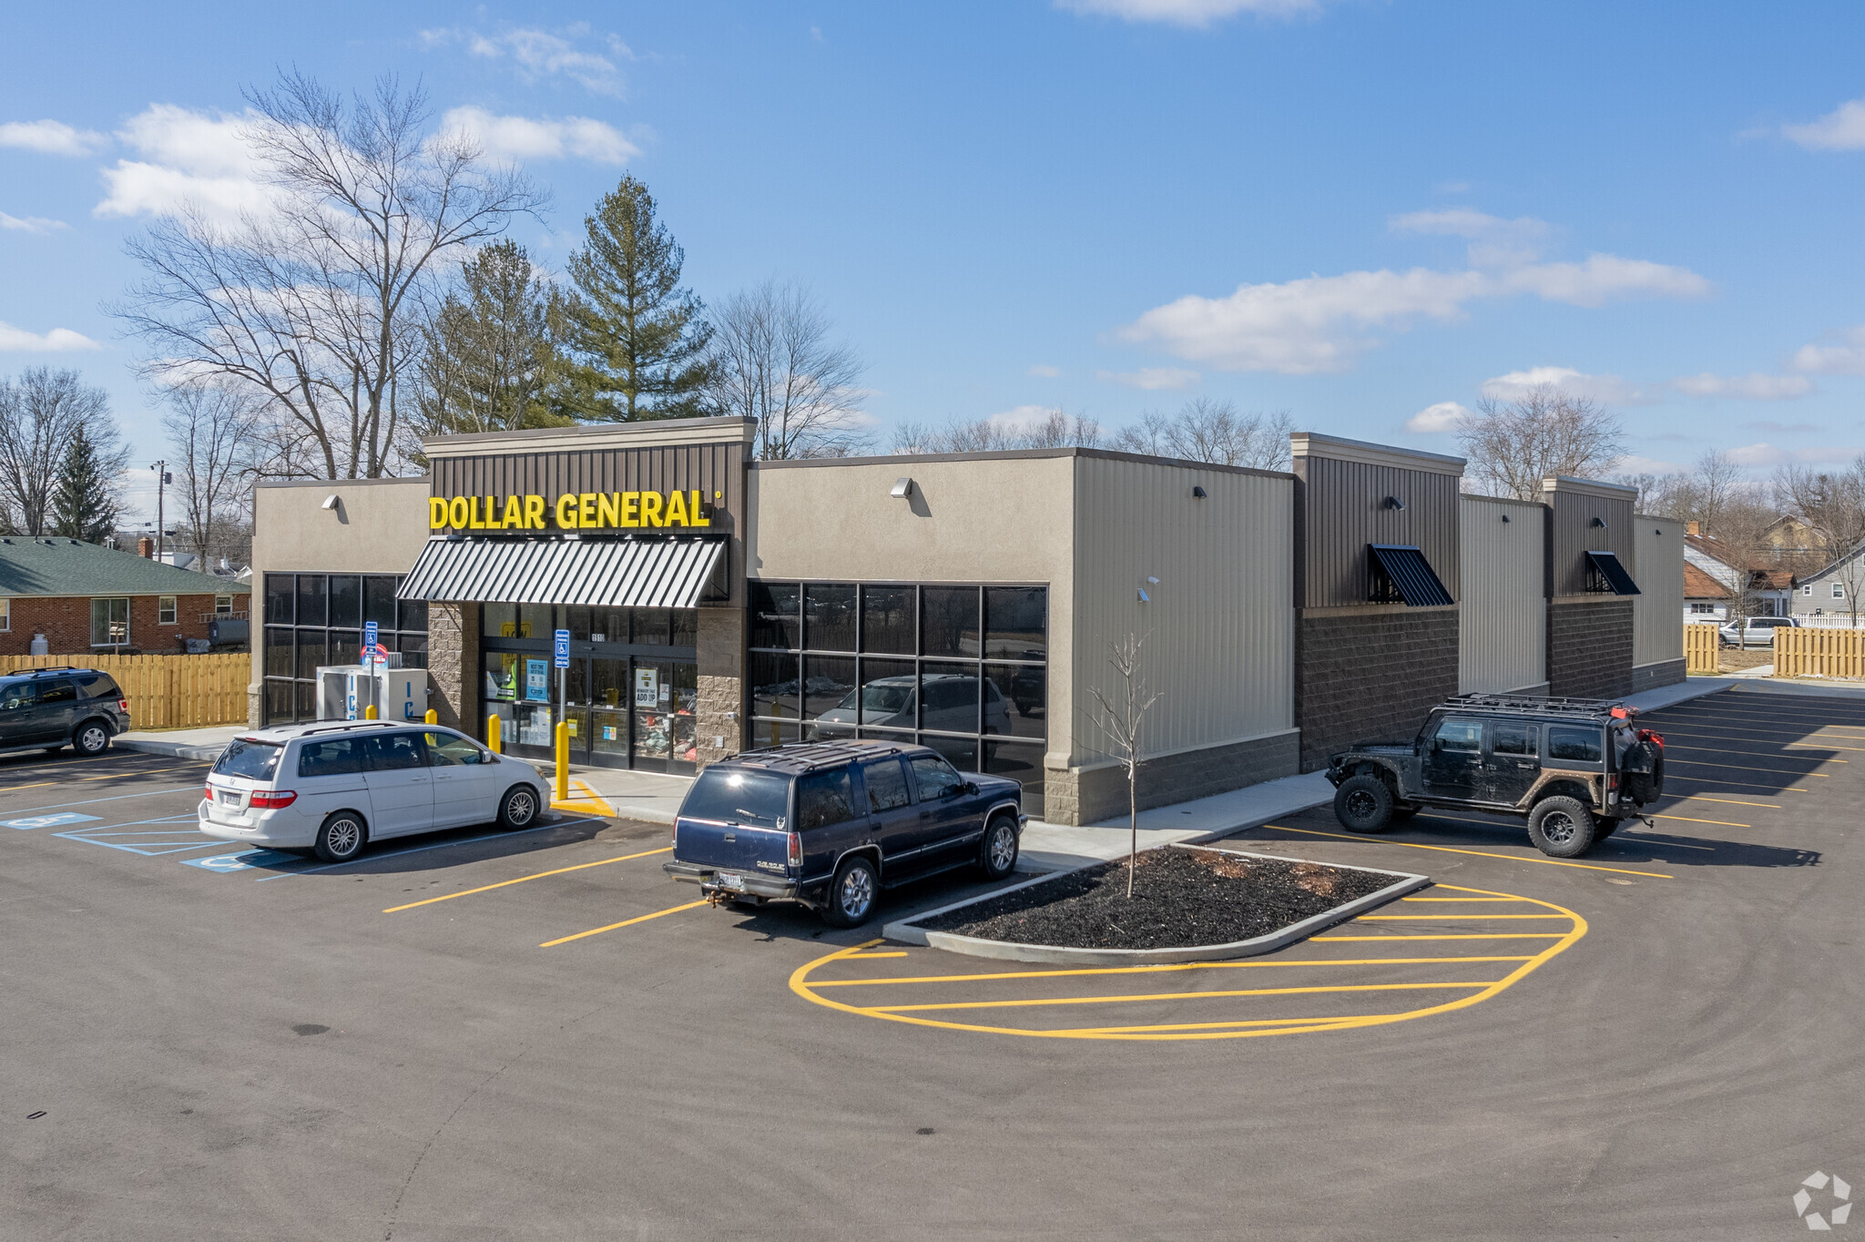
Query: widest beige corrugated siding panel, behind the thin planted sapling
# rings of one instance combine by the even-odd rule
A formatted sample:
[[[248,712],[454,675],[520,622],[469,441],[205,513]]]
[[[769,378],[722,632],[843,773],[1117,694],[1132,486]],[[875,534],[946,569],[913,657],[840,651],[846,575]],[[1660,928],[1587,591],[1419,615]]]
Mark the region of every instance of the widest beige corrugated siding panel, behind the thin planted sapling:
[[[1207,498],[1195,500],[1194,487]],[[1145,753],[1294,725],[1292,487],[1274,476],[1076,459],[1071,761],[1113,757],[1091,724],[1087,688],[1113,697],[1108,647],[1128,632],[1147,636],[1145,679],[1162,694]],[[1141,586],[1153,602],[1140,602]]]

